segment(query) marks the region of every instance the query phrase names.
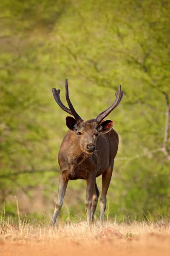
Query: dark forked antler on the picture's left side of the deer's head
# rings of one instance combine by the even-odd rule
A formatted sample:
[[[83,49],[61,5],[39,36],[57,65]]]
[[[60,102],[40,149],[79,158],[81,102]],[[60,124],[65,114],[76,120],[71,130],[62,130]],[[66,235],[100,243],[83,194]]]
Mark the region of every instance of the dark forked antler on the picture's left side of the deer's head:
[[[77,114],[77,112],[75,111],[71,100],[69,98],[69,94],[68,94],[68,80],[65,79],[65,97],[68,103],[68,107],[65,107],[65,105],[61,102],[60,98],[59,98],[59,93],[60,90],[56,90],[56,88],[52,89],[52,93],[54,96],[55,101],[57,102],[57,104],[59,105],[60,108],[62,108],[62,110],[64,110],[65,112],[69,113],[70,115],[74,116],[74,118],[76,119],[76,122],[79,124],[81,122],[83,122],[83,119]]]

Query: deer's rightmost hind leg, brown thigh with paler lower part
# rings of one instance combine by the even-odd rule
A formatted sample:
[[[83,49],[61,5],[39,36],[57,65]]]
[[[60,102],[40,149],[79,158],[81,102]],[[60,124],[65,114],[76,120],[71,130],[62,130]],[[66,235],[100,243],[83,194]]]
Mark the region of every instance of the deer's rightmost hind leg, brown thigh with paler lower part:
[[[106,209],[106,195],[111,182],[111,176],[113,172],[113,164],[109,166],[106,171],[102,174],[102,193],[100,197],[100,220],[104,220],[104,212]]]

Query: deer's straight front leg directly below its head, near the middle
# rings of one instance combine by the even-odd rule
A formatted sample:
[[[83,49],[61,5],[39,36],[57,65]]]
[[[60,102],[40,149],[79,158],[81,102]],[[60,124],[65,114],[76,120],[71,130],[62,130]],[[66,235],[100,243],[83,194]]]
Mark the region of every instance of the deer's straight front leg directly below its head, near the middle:
[[[87,179],[87,188],[86,188],[86,194],[85,194],[85,207],[87,210],[88,226],[91,226],[91,223],[92,223],[91,207],[93,203],[93,193],[94,193],[95,183],[96,183],[96,176],[89,175]]]

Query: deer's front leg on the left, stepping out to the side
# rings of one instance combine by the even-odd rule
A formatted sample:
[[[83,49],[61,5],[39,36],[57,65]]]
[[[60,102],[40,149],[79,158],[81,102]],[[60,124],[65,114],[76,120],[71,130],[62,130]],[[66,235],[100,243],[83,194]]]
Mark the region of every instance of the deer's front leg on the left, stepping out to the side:
[[[62,204],[63,204],[63,199],[64,199],[65,192],[67,189],[67,184],[68,184],[68,179],[63,179],[62,173],[61,173],[60,177],[59,177],[59,190],[58,190],[58,195],[57,195],[56,206],[55,206],[54,214],[53,214],[53,217],[51,219],[51,224],[50,224],[51,227],[55,227],[55,223],[56,223],[57,216],[59,214],[59,210],[61,209]]]

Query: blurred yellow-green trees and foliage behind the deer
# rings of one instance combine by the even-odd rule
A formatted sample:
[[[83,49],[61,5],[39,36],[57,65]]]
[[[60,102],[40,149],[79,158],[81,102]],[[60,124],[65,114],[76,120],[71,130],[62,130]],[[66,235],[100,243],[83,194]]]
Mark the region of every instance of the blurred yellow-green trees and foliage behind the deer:
[[[170,1],[0,1],[0,207],[51,215],[57,153],[68,128],[51,88],[68,78],[84,119],[110,115],[119,134],[106,214],[170,217]],[[66,104],[66,103],[65,103]],[[101,177],[97,179],[101,191]],[[70,181],[62,218],[85,216],[85,181]],[[15,198],[16,196],[16,198]],[[99,213],[99,207],[97,208]]]

